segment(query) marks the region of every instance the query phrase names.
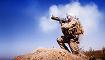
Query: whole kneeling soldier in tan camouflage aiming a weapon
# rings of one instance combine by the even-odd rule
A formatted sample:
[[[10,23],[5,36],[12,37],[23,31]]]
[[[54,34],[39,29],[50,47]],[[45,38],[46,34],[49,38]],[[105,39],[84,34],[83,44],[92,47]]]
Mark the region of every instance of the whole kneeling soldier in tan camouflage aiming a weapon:
[[[51,19],[57,20],[61,24],[61,30],[63,35],[57,38],[57,42],[62,49],[69,51],[65,43],[68,43],[71,52],[74,54],[79,53],[79,35],[83,34],[83,29],[79,20],[73,16],[68,15],[66,19],[60,19],[52,16]],[[69,51],[70,52],[70,51]]]

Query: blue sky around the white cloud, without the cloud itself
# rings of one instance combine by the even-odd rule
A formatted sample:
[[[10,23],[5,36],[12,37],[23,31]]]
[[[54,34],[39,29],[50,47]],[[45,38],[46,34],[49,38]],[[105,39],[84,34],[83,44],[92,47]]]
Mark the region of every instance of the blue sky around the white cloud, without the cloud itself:
[[[48,15],[47,12],[52,5],[65,5],[73,1],[75,0],[0,0],[0,54],[8,57],[38,47],[51,48],[57,45],[55,39],[60,33],[43,32],[39,26],[39,18]],[[105,14],[105,0],[79,2],[81,5],[94,3]],[[100,22],[100,26],[102,32],[105,32],[105,20]]]

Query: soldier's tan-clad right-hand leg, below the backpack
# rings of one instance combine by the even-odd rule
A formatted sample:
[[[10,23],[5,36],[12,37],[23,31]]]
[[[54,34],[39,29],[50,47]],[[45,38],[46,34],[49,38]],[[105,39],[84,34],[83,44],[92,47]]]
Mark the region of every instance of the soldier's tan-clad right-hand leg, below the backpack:
[[[78,47],[78,43],[76,41],[71,39],[68,44],[69,44],[69,47],[70,47],[72,53],[79,54],[79,47]]]

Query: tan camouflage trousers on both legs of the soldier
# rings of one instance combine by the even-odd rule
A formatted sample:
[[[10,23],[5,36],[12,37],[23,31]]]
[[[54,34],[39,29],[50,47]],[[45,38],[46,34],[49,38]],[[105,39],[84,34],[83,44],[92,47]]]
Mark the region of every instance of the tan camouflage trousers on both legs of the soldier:
[[[79,42],[74,40],[74,39],[71,39],[70,37],[65,37],[65,36],[61,36],[61,37],[58,37],[57,38],[57,42],[59,44],[59,46],[62,48],[62,49],[65,49],[67,51],[74,53],[74,54],[78,54],[79,53],[79,47],[78,47],[78,44]],[[70,50],[67,48],[67,46],[65,45],[65,43],[67,43],[70,47]]]

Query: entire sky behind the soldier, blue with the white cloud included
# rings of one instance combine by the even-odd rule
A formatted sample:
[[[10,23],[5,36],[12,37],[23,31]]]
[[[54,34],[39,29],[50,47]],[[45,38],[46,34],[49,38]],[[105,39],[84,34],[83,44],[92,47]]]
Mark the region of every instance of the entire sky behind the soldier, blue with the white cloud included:
[[[59,23],[54,14],[76,15],[85,29],[81,47],[105,46],[105,0],[0,0],[0,57],[11,57],[36,48],[59,48]]]

